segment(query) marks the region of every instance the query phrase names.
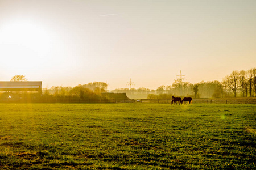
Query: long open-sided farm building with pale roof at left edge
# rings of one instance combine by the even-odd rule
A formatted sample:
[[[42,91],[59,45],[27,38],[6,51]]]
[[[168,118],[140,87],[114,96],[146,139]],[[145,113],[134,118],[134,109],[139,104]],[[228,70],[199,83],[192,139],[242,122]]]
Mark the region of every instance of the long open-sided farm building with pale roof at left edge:
[[[0,82],[1,99],[36,98],[42,95],[42,82]]]

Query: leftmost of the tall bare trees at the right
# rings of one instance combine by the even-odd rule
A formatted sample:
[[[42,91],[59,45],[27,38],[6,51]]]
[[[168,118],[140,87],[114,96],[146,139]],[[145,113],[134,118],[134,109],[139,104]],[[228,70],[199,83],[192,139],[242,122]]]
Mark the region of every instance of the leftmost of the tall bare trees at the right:
[[[225,76],[223,80],[224,86],[233,91],[234,97],[237,97],[237,86],[238,86],[239,73],[233,71],[230,75]]]

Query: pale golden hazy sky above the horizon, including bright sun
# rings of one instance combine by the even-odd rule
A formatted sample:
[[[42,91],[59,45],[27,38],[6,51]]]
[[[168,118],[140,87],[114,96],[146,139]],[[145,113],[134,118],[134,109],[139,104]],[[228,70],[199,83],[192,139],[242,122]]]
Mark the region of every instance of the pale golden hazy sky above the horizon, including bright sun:
[[[256,1],[0,0],[0,81],[156,89],[256,67]]]

